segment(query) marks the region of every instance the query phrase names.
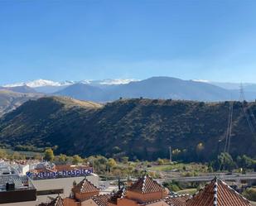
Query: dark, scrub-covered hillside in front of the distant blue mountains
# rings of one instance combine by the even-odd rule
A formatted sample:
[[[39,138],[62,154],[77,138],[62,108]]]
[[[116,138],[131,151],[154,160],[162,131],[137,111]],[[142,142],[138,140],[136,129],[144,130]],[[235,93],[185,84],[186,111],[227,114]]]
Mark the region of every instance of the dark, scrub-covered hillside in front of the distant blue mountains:
[[[28,101],[2,117],[0,142],[6,146],[58,146],[56,152],[89,156],[129,156],[152,160],[213,160],[223,151],[229,102],[199,103],[122,99],[104,106],[71,98]],[[256,115],[256,103],[247,108]],[[234,103],[230,152],[256,156],[241,103]],[[117,154],[118,153],[118,154]]]

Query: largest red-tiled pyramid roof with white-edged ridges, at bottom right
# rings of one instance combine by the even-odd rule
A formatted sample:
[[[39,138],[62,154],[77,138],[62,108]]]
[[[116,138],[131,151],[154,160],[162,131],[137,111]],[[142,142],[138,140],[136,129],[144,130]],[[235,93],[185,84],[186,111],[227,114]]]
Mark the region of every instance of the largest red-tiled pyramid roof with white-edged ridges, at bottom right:
[[[200,189],[186,206],[251,206],[249,201],[223,181],[215,178],[204,189]]]

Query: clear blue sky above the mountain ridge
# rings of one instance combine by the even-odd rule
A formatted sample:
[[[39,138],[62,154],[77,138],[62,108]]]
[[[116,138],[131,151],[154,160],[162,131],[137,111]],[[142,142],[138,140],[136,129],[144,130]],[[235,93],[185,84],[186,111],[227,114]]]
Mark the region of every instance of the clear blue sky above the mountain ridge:
[[[254,0],[2,0],[0,84],[173,76],[256,83]]]

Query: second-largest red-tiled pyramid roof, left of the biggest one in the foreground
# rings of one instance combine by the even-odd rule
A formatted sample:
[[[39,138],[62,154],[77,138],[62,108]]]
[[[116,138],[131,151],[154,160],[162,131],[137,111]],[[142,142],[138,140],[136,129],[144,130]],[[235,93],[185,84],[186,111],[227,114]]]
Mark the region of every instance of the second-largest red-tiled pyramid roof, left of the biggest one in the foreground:
[[[128,190],[140,192],[142,194],[162,192],[165,189],[156,180],[153,180],[149,175],[143,175]]]

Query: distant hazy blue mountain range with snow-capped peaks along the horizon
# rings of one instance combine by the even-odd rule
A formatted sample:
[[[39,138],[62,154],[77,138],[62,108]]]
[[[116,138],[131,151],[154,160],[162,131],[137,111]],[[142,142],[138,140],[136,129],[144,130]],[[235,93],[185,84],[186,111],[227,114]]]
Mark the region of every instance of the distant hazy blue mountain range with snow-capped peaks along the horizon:
[[[206,80],[182,80],[171,77],[152,77],[144,80],[137,79],[104,79],[55,82],[38,79],[27,83],[7,84],[0,90],[13,93],[29,93],[30,98],[41,95],[56,95],[106,103],[118,98],[162,98],[181,99],[205,102],[239,100],[240,84],[217,83]],[[40,93],[40,95],[38,95]],[[256,98],[256,84],[244,84],[244,94],[248,101]],[[19,95],[17,95],[19,96]],[[5,101],[0,93],[1,101]],[[7,101],[5,101],[7,102]],[[22,101],[23,102],[23,101]],[[3,105],[3,103],[2,103]],[[4,104],[7,105],[7,104]],[[0,111],[8,111],[2,106]],[[1,112],[0,112],[1,115]]]

